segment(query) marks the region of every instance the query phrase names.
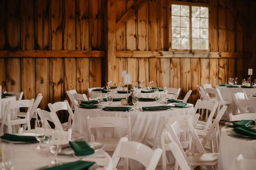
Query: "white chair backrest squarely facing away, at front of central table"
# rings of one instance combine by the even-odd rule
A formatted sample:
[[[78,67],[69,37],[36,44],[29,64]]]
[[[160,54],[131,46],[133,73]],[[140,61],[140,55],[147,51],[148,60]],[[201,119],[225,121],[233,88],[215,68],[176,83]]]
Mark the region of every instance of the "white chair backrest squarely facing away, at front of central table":
[[[87,121],[87,135],[88,139],[91,138],[91,128],[100,127],[113,127],[113,128],[124,128],[128,129],[129,141],[131,141],[131,120],[122,117],[86,117]]]

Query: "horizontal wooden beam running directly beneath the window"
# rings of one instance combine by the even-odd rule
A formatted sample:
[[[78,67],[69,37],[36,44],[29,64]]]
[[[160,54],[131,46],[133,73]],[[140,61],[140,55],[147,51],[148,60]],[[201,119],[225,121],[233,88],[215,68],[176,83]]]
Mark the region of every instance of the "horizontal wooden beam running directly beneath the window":
[[[188,51],[116,51],[125,58],[252,58],[252,53],[188,52]]]

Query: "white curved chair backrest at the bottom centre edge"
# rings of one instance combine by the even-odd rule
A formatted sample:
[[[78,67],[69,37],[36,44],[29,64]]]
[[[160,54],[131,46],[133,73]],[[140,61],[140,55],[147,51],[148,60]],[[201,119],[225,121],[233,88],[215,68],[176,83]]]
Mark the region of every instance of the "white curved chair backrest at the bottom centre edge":
[[[140,162],[146,167],[146,170],[155,170],[161,154],[162,149],[160,148],[153,151],[144,144],[128,141],[126,137],[122,137],[113,153],[112,165],[113,167],[116,167],[120,158],[130,158]],[[128,166],[124,167],[124,170],[126,169],[128,169]]]

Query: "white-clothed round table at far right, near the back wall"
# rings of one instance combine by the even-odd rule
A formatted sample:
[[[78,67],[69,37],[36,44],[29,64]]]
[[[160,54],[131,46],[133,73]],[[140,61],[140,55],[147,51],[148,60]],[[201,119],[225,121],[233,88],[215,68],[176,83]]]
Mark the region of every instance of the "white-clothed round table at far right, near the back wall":
[[[216,85],[216,88],[218,88],[220,90],[220,94],[221,94],[223,100],[231,102],[231,104],[229,104],[228,108],[227,108],[228,113],[235,113],[235,111],[236,111],[236,103],[232,97],[232,93],[243,92],[243,90],[245,91],[245,90],[256,89],[256,88],[241,88],[241,85],[237,85],[237,86],[239,86],[239,88]],[[248,95],[247,97],[248,97],[248,99],[250,99],[251,95]]]

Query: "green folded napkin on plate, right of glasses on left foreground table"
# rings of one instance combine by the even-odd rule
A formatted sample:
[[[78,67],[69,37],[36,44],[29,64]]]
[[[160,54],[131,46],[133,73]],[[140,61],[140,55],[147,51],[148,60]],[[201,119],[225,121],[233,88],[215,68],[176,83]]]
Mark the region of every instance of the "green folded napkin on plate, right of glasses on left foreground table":
[[[69,141],[69,144],[71,148],[75,151],[76,156],[91,155],[94,153],[94,150],[86,143],[86,141]]]

